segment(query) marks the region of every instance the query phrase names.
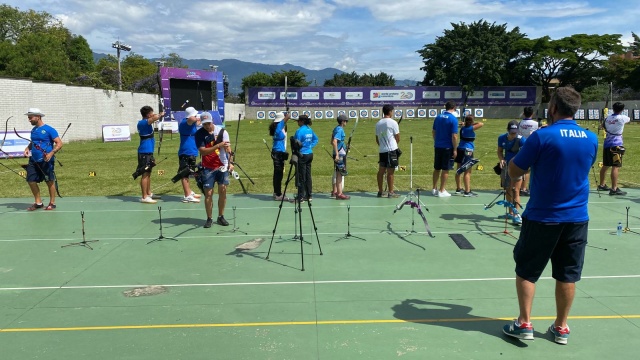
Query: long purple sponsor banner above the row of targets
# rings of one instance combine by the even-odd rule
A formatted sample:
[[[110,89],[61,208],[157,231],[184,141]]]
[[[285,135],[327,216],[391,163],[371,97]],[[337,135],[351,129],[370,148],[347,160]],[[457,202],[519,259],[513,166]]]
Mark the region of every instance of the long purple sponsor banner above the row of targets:
[[[276,94],[274,96],[274,94]],[[275,98],[274,98],[275,97]],[[250,88],[249,106],[284,106],[283,87]],[[381,103],[394,106],[440,107],[445,100],[458,102],[467,99],[467,105],[483,106],[531,106],[535,105],[535,86],[481,87],[466,93],[457,86],[413,87],[302,87],[288,91],[288,101],[297,107],[377,107]]]

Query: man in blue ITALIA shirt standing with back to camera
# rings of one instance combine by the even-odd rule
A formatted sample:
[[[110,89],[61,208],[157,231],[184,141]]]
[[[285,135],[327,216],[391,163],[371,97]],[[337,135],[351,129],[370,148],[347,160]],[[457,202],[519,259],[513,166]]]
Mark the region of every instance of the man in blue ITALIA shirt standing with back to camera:
[[[589,171],[598,153],[596,135],[573,120],[580,104],[573,88],[558,88],[549,101],[551,125],[532,133],[509,162],[512,179],[531,169],[531,197],[513,249],[520,314],[503,328],[519,339],[533,339],[536,282],[549,260],[556,280],[556,318],[548,332],[558,344],[569,339],[567,318],[587,246]]]

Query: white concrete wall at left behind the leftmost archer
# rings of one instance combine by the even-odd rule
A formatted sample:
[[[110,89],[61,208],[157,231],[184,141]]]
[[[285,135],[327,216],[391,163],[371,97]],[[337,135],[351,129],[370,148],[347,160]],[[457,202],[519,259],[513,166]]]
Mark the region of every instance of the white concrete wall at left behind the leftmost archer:
[[[102,125],[128,124],[131,133],[136,133],[140,108],[144,105],[157,110],[157,95],[0,78],[0,121],[4,123],[13,115],[8,125],[10,131],[14,127],[31,130],[24,114],[28,108],[40,108],[46,115],[45,123],[60,135],[71,123],[64,142],[101,138]]]

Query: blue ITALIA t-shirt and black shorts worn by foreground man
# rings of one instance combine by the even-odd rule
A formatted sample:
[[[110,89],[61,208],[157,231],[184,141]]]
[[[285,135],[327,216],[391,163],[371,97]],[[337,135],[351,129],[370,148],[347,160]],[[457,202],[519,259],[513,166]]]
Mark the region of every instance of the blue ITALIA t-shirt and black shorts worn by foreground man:
[[[521,278],[535,283],[551,259],[554,279],[580,280],[589,222],[589,170],[597,152],[596,135],[565,119],[531,134],[513,157],[517,167],[531,169],[535,191],[522,214],[513,251]]]

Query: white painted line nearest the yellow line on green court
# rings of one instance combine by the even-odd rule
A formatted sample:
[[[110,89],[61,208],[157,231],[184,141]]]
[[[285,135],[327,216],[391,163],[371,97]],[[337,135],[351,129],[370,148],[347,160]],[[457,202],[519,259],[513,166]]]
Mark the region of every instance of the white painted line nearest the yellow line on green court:
[[[637,279],[639,275],[593,275],[583,276],[585,280],[597,279]],[[553,280],[552,277],[541,277],[540,280]],[[478,281],[513,281],[513,277],[506,278],[468,278],[468,279],[381,279],[381,280],[320,280],[320,281],[271,281],[246,283],[208,283],[208,284],[164,284],[164,287],[217,287],[217,286],[273,286],[273,285],[333,285],[333,284],[385,284],[385,283],[438,283],[438,282],[478,282]],[[138,288],[151,285],[78,285],[78,286],[34,286],[0,288],[1,291],[29,291],[29,290],[92,290],[92,289],[124,289]]]

